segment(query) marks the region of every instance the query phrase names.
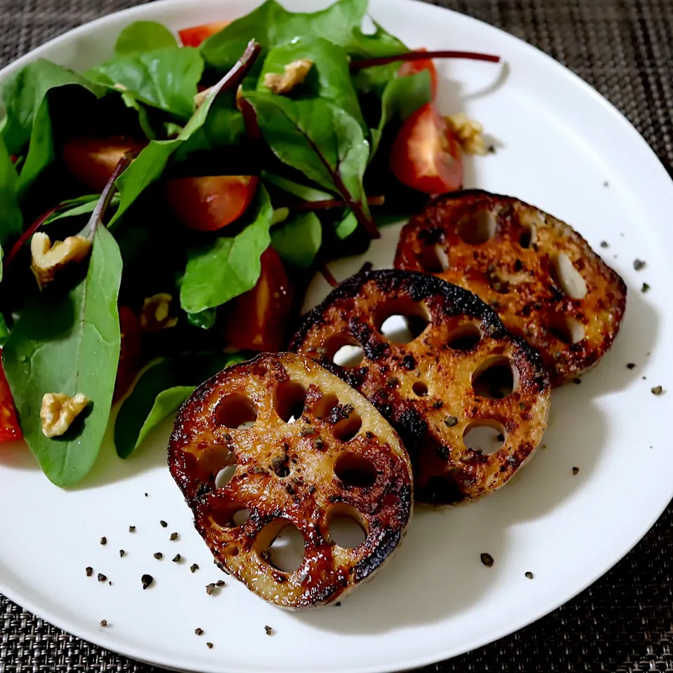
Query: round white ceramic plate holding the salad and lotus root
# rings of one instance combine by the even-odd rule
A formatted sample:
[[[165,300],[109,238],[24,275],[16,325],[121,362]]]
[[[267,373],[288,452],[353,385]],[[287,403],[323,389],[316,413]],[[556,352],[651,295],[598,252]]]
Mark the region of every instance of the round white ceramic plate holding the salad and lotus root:
[[[177,29],[233,18],[254,4],[140,6],[76,29],[0,76],[35,57],[89,67],[107,57],[132,20]],[[304,11],[324,4],[288,2]],[[467,186],[518,196],[574,224],[629,286],[622,333],[581,386],[553,393],[546,449],[512,483],[473,505],[416,512],[379,576],[322,611],[274,609],[227,578],[226,587],[206,594],[205,585],[224,576],[168,474],[168,426],[128,461],[108,442],[90,478],[71,491],[53,487],[25,447],[0,447],[0,592],[79,637],[203,672],[412,668],[493,641],[571,599],[639,541],[673,494],[673,324],[666,310],[673,185],[665,170],[603,98],[512,36],[410,0],[372,0],[372,13],[410,46],[503,56],[505,67],[440,64],[444,111],[463,109],[498,141],[495,156],[470,161]],[[386,230],[365,258],[390,265],[396,236]],[[602,240],[610,247],[599,247]],[[644,271],[634,271],[636,257],[647,261]],[[346,260],[332,271],[344,278],[360,264],[362,258]],[[652,287],[646,295],[644,281]],[[311,296],[325,290],[315,283]],[[655,397],[656,385],[672,390]],[[169,541],[172,531],[177,541]],[[157,551],[163,560],[153,558]],[[178,552],[184,561],[172,563]],[[481,552],[494,557],[491,568],[480,563]],[[191,573],[195,562],[200,569]],[[112,584],[87,578],[86,566]],[[143,573],[155,578],[147,591]],[[203,636],[194,634],[197,627]]]

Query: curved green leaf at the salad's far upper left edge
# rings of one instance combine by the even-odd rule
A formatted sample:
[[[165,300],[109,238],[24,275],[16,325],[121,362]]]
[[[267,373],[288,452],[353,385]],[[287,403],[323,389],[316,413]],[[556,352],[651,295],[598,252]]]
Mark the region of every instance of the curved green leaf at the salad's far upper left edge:
[[[6,109],[2,137],[9,154],[21,154],[30,140],[33,121],[48,91],[76,84],[101,97],[106,88],[76,72],[44,59],[35,60],[0,84]]]

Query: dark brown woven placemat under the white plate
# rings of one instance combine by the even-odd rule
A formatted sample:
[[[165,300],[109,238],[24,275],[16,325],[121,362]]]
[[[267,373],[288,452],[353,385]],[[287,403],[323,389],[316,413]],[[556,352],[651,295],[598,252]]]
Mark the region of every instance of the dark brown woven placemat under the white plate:
[[[141,1],[0,0],[0,65]],[[672,171],[673,0],[435,4],[501,27],[564,63],[623,111]],[[669,506],[637,548],[577,599],[508,638],[423,670],[673,672],[672,524]],[[0,596],[0,673],[154,670],[72,637]]]

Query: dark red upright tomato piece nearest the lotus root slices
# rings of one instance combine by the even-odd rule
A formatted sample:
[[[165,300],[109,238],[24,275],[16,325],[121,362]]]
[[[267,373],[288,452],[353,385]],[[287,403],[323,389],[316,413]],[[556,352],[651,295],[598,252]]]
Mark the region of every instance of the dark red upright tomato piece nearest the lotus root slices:
[[[233,299],[224,329],[230,346],[276,353],[283,347],[292,309],[292,286],[273,247],[261,256],[261,274],[252,290]]]

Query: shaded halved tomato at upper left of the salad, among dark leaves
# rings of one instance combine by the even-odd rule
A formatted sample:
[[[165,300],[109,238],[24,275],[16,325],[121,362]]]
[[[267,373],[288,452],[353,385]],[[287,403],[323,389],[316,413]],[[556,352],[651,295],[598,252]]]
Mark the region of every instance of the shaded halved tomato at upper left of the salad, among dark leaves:
[[[72,175],[98,193],[103,191],[124,154],[138,151],[145,144],[123,136],[73,138],[63,148],[63,160]]]

